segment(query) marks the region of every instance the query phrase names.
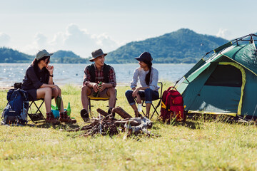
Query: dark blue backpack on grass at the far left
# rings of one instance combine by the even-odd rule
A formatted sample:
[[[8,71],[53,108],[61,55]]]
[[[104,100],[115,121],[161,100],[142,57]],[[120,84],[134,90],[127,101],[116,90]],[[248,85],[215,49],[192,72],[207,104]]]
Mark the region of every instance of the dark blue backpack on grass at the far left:
[[[8,103],[1,116],[1,118],[4,118],[4,124],[26,124],[26,117],[29,108],[28,93],[19,88],[11,89],[7,93],[7,100]]]

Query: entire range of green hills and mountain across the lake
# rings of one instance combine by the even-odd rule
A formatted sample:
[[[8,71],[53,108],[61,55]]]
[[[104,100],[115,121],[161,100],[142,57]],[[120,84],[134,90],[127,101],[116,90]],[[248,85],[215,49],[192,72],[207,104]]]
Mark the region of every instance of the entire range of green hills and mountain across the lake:
[[[163,36],[132,41],[116,51],[111,51],[106,63],[136,63],[134,59],[143,51],[149,51],[153,63],[196,63],[206,52],[227,43],[228,40],[216,36],[198,34],[187,28],[166,33]],[[34,56],[0,48],[0,63],[31,62]],[[56,51],[51,56],[52,63],[89,63],[89,58],[81,58],[72,51]]]

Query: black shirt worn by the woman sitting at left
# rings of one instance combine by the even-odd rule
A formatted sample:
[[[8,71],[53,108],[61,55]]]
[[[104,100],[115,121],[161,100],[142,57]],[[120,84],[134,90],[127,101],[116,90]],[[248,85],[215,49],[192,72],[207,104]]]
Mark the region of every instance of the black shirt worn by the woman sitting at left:
[[[29,66],[22,81],[21,88],[24,90],[39,89],[43,83],[49,83],[49,71],[44,67],[40,70],[39,66]]]

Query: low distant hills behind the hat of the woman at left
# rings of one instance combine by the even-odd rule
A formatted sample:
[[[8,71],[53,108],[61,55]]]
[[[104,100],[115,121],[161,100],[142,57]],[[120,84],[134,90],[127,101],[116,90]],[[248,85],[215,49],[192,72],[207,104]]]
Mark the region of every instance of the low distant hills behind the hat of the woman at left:
[[[0,48],[0,63],[31,63],[35,56],[21,53],[12,48]],[[81,58],[72,51],[56,51],[51,56],[51,63],[89,63],[89,60]]]

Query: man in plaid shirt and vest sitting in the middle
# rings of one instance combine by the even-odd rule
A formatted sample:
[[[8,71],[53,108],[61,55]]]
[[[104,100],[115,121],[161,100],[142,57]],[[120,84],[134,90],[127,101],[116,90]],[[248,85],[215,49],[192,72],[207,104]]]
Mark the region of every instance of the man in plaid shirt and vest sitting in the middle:
[[[86,66],[84,70],[84,82],[81,88],[81,118],[89,120],[89,98],[109,98],[109,110],[116,104],[116,76],[114,68],[104,63],[107,53],[100,49],[93,51],[92,58],[89,60],[93,64]],[[101,85],[99,85],[101,83]],[[88,98],[89,97],[89,98]]]

